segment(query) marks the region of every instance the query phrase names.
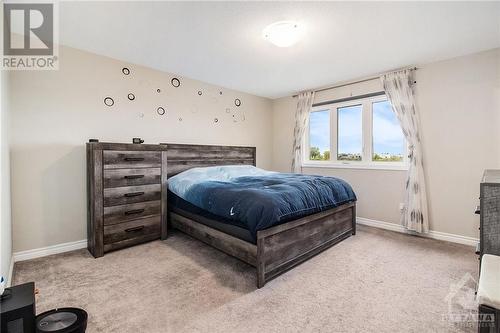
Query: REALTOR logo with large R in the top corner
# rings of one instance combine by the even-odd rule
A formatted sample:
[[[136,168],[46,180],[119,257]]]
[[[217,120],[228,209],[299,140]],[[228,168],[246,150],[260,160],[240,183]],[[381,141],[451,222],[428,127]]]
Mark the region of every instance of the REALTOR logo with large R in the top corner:
[[[57,69],[54,3],[3,4],[2,69]]]

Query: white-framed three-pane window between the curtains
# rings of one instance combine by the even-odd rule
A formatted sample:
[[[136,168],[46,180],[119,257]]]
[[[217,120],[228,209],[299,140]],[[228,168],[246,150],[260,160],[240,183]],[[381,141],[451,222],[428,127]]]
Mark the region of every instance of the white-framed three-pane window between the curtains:
[[[305,166],[407,168],[407,145],[385,96],[313,108]]]

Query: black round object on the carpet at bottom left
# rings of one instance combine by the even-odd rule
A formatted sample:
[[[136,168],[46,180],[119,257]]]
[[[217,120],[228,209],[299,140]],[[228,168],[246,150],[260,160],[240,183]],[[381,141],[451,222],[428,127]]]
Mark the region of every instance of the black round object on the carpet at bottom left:
[[[84,333],[87,312],[77,308],[60,308],[36,316],[37,333]]]

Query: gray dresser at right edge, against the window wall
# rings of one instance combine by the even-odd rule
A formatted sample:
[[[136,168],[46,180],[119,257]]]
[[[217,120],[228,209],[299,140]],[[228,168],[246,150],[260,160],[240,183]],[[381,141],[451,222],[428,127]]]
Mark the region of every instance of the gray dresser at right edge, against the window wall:
[[[485,170],[480,185],[479,255],[500,256],[500,170]]]

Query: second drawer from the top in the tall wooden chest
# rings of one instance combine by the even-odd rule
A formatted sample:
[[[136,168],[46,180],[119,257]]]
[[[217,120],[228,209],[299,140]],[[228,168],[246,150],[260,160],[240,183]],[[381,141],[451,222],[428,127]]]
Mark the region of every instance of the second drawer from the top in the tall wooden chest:
[[[104,187],[160,184],[160,168],[104,170]]]

